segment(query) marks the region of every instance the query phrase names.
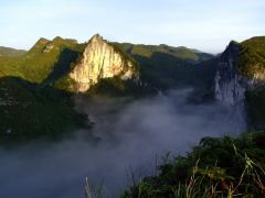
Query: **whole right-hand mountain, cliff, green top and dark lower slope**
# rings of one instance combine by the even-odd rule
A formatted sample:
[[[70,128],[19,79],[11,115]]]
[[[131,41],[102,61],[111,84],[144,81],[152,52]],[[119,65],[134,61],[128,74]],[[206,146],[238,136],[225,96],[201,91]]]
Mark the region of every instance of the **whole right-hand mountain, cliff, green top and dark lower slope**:
[[[246,108],[248,125],[265,129],[265,37],[231,42],[218,59],[215,97]]]

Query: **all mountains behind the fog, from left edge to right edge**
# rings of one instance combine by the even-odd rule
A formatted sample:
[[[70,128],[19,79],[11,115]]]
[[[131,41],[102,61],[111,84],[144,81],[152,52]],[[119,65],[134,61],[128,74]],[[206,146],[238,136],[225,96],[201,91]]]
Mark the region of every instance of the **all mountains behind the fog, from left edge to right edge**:
[[[0,140],[85,127],[86,116],[73,109],[76,94],[140,97],[180,87],[193,87],[197,101],[244,101],[252,127],[265,128],[265,109],[256,109],[265,101],[264,69],[265,37],[232,42],[219,56],[108,42],[98,34],[82,44],[40,38],[29,52],[0,47]]]

